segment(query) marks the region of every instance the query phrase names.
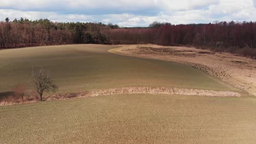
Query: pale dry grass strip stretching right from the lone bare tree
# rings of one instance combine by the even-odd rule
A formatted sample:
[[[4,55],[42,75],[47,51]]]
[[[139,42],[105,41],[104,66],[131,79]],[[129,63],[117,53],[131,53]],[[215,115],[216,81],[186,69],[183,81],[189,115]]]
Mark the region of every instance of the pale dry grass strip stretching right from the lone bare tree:
[[[61,100],[70,98],[96,97],[101,95],[115,94],[170,94],[170,95],[198,95],[209,97],[240,97],[241,94],[229,91],[212,91],[203,89],[186,89],[186,88],[171,88],[171,87],[123,87],[111,88],[96,92],[80,92],[69,94],[55,94],[46,98],[46,100]]]

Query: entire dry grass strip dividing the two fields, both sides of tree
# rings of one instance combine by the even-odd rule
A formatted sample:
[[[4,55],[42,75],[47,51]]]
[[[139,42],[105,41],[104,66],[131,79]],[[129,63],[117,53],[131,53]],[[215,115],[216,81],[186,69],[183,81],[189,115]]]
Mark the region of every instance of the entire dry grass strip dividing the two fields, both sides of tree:
[[[72,98],[97,97],[103,95],[119,95],[119,94],[167,94],[167,95],[197,95],[207,97],[241,97],[240,93],[230,91],[213,91],[204,89],[188,89],[173,87],[123,87],[110,88],[100,91],[78,92],[67,94],[49,95],[45,100],[65,100]],[[39,100],[36,93],[31,93],[30,97],[22,100],[20,97],[11,95],[0,101],[0,106],[34,103]]]

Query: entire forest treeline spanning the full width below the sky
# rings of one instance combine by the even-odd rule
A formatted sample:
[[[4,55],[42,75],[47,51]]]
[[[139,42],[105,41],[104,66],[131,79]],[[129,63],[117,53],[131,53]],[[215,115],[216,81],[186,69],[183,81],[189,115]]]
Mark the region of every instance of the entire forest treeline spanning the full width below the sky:
[[[61,44],[158,44],[195,46],[256,57],[256,22],[215,22],[119,28],[109,23],[20,19],[0,22],[0,47]]]

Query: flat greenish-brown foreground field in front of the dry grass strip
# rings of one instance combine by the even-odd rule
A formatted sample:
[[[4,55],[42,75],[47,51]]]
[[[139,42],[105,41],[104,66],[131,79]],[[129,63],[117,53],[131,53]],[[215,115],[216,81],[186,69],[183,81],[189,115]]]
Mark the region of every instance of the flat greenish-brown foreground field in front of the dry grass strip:
[[[256,99],[130,94],[0,107],[0,143],[256,143]]]

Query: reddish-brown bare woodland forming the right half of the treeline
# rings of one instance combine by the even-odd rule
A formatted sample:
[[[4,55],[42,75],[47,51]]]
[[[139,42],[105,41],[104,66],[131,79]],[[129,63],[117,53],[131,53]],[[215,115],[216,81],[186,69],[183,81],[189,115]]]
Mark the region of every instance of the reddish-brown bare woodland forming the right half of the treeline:
[[[185,45],[256,57],[256,22],[152,23],[148,28],[108,29],[102,33],[111,44]]]

